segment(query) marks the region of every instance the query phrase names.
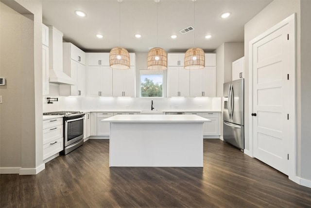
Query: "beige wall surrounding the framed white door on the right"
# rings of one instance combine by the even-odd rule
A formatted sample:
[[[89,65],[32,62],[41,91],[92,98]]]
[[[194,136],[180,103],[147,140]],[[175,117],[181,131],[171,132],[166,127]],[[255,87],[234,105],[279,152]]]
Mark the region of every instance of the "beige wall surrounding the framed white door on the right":
[[[296,151],[297,176],[311,180],[310,140],[310,9],[309,0],[274,0],[245,24],[245,83],[249,82],[249,41],[296,14]],[[245,96],[248,97],[248,88]],[[245,149],[249,150],[249,102],[245,100]],[[302,113],[303,112],[303,113]]]

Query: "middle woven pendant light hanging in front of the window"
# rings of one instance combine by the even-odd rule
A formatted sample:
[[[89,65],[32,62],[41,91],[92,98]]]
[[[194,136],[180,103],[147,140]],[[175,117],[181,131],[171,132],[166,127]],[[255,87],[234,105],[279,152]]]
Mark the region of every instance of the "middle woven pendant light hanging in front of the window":
[[[156,45],[157,45],[157,4],[156,2]],[[149,70],[163,71],[167,69],[167,54],[163,48],[155,47],[150,49],[147,58],[147,68]]]

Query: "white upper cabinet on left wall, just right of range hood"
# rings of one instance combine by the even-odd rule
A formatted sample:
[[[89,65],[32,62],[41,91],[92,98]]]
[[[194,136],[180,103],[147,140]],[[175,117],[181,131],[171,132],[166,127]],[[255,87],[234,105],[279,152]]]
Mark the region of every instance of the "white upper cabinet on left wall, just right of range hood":
[[[72,54],[73,53],[73,54]],[[63,43],[63,69],[75,81],[75,85],[60,84],[59,93],[62,96],[86,95],[86,54],[72,43]]]

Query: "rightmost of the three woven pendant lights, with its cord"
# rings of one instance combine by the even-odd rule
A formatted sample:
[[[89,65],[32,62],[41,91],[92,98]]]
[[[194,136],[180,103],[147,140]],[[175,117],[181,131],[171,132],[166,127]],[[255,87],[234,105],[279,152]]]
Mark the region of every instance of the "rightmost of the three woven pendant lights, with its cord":
[[[194,27],[195,27],[195,0],[194,1]],[[194,30],[195,45],[195,30]],[[205,53],[201,48],[190,48],[186,51],[184,68],[189,70],[203,69],[205,67]]]

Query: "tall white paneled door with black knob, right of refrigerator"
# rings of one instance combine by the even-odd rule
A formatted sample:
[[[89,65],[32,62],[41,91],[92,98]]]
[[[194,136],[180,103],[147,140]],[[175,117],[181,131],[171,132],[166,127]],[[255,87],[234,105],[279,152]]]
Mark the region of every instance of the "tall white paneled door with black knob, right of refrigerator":
[[[289,142],[294,139],[291,131],[295,128],[288,115],[294,99],[289,92],[295,87],[288,79],[288,75],[294,78],[291,26],[276,28],[252,44],[254,157],[285,174],[289,171]],[[292,120],[295,117],[290,116]]]

